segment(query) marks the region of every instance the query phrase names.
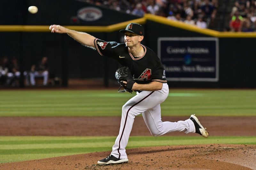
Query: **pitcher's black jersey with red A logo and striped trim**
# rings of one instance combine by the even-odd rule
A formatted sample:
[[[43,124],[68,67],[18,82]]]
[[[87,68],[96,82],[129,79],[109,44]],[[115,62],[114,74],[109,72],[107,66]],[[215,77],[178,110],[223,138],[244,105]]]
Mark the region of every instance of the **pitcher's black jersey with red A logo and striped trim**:
[[[134,57],[124,43],[95,39],[94,45],[100,55],[111,57],[121,65],[129,67],[136,83],[148,84],[152,81],[167,83],[164,67],[150,48],[141,44],[144,54],[140,57]]]

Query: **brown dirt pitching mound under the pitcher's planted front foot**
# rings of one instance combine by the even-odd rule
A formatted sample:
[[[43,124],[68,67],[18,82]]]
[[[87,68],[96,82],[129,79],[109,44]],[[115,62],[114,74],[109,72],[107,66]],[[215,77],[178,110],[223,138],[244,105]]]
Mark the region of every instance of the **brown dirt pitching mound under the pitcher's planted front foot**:
[[[180,145],[127,150],[128,163],[97,165],[109,152],[70,155],[49,159],[1,164],[0,169],[256,169],[255,145]]]

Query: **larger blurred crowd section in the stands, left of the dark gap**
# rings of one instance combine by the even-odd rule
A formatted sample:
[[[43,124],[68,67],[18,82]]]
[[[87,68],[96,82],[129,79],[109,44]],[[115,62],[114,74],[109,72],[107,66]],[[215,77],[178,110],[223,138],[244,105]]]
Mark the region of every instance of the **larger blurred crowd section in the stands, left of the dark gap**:
[[[145,13],[207,28],[216,17],[218,0],[85,0],[142,17]]]

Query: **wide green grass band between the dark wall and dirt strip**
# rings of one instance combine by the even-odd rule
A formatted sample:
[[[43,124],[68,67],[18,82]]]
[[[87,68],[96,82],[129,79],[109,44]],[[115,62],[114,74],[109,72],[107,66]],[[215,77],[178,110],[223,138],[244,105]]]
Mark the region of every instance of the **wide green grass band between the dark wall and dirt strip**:
[[[120,116],[135,92],[1,90],[0,116]],[[256,116],[256,90],[170,90],[164,116]]]

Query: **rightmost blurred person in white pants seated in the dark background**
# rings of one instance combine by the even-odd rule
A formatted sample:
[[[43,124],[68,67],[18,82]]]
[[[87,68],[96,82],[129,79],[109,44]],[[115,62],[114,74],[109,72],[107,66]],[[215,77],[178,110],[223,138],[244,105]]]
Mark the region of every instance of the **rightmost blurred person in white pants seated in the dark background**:
[[[43,85],[47,85],[48,77],[49,77],[49,69],[48,69],[48,58],[43,57],[42,60],[37,65],[32,65],[30,72],[30,83],[31,85],[36,85],[35,78],[43,77],[44,82]]]

